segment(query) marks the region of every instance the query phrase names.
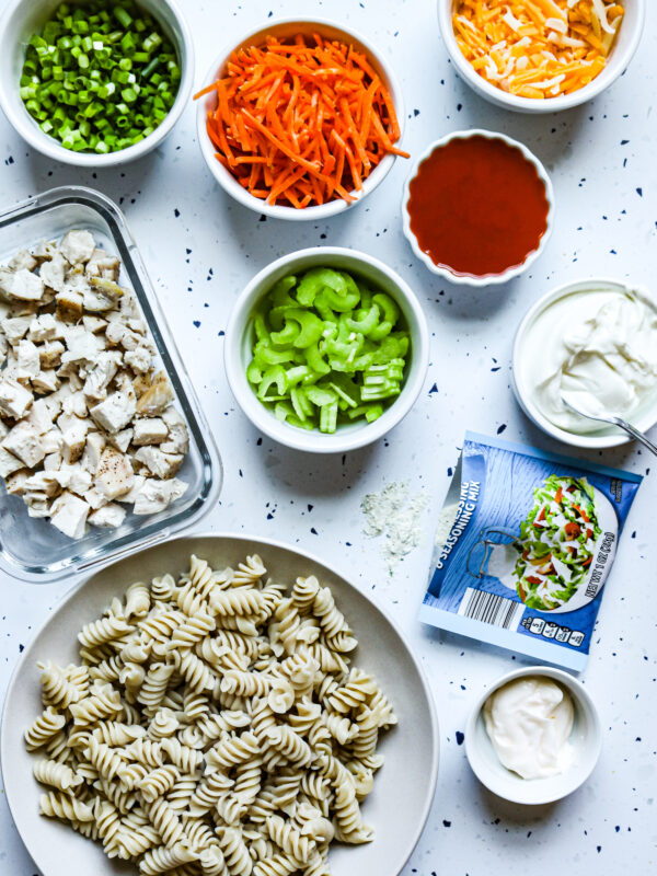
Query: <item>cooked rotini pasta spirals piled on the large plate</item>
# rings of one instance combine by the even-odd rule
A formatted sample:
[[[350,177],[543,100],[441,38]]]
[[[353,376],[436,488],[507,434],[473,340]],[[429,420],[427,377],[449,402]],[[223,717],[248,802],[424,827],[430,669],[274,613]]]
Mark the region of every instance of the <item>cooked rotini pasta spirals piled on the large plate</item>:
[[[79,666],[38,664],[43,815],[143,876],[328,876],[334,840],[372,839],[392,705],[330,588],[266,574],[192,556],[85,624]]]

